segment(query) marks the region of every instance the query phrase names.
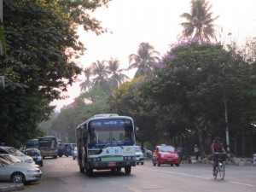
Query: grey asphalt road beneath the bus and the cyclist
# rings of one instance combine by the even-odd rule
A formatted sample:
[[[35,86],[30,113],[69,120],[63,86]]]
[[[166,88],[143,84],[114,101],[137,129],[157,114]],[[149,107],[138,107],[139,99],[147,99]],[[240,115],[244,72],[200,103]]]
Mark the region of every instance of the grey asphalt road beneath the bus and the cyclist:
[[[25,185],[25,191],[37,192],[255,192],[256,167],[225,166],[224,180],[212,177],[210,164],[182,164],[181,166],[132,167],[131,175],[121,172],[96,171],[93,177],[79,172],[72,157],[45,159],[43,178]]]

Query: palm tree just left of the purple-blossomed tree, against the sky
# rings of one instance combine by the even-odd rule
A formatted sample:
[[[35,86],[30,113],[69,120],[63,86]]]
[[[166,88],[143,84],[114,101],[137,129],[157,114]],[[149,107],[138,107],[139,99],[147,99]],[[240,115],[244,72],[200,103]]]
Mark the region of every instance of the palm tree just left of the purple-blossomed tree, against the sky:
[[[159,52],[154,50],[154,47],[148,43],[139,44],[137,49],[137,55],[129,55],[129,69],[137,68],[137,72],[134,75],[134,78],[137,78],[141,75],[152,73],[154,69],[154,63],[160,61],[158,57]]]

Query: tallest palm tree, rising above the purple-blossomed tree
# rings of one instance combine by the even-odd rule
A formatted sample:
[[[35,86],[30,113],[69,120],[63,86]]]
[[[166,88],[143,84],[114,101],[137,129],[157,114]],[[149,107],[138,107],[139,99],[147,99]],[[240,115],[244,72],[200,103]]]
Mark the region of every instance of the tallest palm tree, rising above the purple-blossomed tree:
[[[199,42],[211,42],[211,39],[217,41],[216,25],[213,24],[218,16],[212,17],[212,5],[205,0],[192,0],[191,13],[183,13],[182,18],[187,22],[180,25],[183,26],[181,38],[198,38]]]

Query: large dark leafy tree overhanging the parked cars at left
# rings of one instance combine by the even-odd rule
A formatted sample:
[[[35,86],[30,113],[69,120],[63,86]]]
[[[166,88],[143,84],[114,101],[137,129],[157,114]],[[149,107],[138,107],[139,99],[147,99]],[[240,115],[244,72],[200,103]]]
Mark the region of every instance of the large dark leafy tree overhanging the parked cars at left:
[[[38,123],[53,110],[49,103],[60,99],[61,91],[81,72],[72,61],[84,52],[77,26],[105,32],[86,12],[106,3],[108,0],[3,1],[9,56],[0,65],[0,75],[6,79],[6,88],[0,92],[1,142],[18,147],[40,134]]]

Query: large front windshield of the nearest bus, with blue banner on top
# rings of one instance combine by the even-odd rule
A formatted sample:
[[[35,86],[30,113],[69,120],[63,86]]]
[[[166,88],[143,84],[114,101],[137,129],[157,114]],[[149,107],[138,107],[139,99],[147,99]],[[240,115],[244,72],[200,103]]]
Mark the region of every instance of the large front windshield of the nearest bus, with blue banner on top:
[[[96,119],[88,125],[88,147],[132,145],[133,126],[130,119]]]

